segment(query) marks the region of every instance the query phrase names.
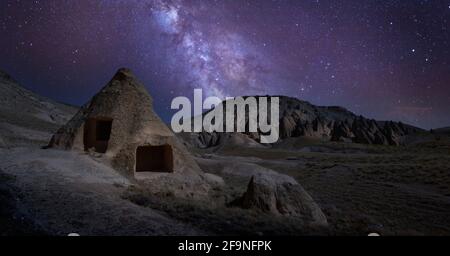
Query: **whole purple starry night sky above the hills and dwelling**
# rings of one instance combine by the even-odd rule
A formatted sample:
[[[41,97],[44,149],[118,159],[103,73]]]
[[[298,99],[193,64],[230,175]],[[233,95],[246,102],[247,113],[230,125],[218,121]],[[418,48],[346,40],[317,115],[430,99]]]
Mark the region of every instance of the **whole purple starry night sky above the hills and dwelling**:
[[[171,100],[288,95],[450,125],[450,0],[2,0],[0,69],[82,105],[120,67]]]

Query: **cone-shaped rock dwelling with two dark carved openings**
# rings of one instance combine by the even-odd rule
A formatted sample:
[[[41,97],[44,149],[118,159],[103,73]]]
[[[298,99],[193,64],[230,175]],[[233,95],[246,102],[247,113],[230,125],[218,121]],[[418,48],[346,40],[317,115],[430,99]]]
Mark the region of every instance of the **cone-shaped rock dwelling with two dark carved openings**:
[[[152,98],[120,69],[50,141],[49,147],[102,153],[111,166],[136,173],[200,173],[185,147],[154,112]]]

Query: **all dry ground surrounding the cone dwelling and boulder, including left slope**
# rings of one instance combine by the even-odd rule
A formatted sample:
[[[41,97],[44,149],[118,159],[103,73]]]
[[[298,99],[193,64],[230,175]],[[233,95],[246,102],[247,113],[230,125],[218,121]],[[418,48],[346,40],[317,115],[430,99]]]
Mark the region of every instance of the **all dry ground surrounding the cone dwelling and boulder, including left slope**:
[[[400,146],[305,137],[262,146],[236,135],[199,149],[185,141],[211,190],[180,198],[195,191],[149,189],[161,184],[121,175],[102,154],[42,149],[77,109],[4,73],[0,85],[1,235],[450,235],[448,128],[408,135]],[[300,184],[328,226],[237,207],[258,175]]]

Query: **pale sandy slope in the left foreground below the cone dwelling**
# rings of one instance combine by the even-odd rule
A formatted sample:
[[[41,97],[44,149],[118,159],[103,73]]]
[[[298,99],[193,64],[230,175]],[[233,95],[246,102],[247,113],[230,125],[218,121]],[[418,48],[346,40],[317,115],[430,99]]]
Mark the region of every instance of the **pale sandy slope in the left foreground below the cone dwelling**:
[[[123,199],[121,195],[130,182],[86,155],[37,148],[0,149],[0,155],[2,205],[14,208],[9,211],[9,218],[23,226],[9,225],[12,233],[204,233],[162,212]],[[6,202],[8,196],[13,201]]]

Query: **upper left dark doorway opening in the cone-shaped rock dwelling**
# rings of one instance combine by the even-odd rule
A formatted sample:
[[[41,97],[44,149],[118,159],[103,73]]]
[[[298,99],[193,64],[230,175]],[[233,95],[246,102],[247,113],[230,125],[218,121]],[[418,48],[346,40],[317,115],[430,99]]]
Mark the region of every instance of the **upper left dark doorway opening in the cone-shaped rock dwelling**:
[[[84,150],[91,148],[95,152],[105,153],[111,137],[111,118],[89,118],[84,125]]]

